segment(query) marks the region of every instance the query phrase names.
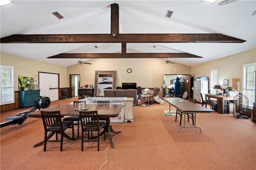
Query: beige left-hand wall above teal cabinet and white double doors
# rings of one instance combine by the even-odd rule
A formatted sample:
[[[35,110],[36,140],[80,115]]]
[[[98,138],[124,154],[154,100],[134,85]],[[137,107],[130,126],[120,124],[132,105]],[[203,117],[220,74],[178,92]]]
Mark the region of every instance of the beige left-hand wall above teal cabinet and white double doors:
[[[36,61],[14,55],[1,53],[1,65],[8,65],[14,67],[14,90],[18,91],[18,75],[23,77],[35,77],[38,71],[45,73],[59,73],[60,74],[60,88],[67,87],[67,69],[66,67],[54,65],[42,61]],[[38,83],[38,76],[36,76]]]

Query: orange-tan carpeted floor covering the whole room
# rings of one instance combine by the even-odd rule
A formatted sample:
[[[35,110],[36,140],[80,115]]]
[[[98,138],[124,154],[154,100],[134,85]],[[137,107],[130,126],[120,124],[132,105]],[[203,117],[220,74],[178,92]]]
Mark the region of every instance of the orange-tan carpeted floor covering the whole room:
[[[52,104],[68,104],[73,100],[76,99]],[[175,122],[175,116],[165,116],[163,113],[168,109],[166,102],[164,105],[135,106],[133,123],[112,123],[114,130],[122,131],[114,137],[115,148],[109,147],[109,140],[104,140],[102,136],[99,152],[95,142],[85,143],[84,152],[81,152],[81,138],[75,141],[64,138],[62,152],[57,142],[47,144],[46,152],[43,152],[43,145],[33,148],[36,142],[42,140],[44,130],[41,119],[28,118],[23,125],[0,129],[0,168],[99,170],[102,166],[102,170],[255,169],[256,123],[216,112],[197,114],[196,125],[202,128],[202,133],[190,128],[181,129],[178,133],[180,126],[179,122]],[[16,114],[15,111],[1,113],[1,122],[5,121],[3,119],[7,115]],[[186,122],[186,125],[191,124],[191,121]],[[67,134],[71,134],[68,130]]]

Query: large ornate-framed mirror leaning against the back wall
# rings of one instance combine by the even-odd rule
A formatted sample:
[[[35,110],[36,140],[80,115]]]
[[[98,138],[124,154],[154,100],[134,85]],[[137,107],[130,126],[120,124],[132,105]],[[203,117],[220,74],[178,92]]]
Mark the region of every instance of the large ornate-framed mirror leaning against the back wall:
[[[104,89],[116,89],[117,71],[95,71],[94,97],[104,96]]]

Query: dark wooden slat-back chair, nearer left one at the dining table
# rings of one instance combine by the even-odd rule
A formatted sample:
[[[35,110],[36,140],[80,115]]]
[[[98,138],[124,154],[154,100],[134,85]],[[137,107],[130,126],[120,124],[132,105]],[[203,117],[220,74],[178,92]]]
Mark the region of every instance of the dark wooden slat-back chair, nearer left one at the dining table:
[[[73,122],[62,122],[60,111],[41,111],[41,116],[44,124],[44,151],[46,151],[47,142],[60,142],[60,151],[62,151],[63,135],[67,128],[72,128],[72,138],[74,139]],[[48,134],[48,132],[50,133]],[[54,133],[56,133],[56,140],[50,140]],[[60,140],[58,140],[58,133],[61,134]]]

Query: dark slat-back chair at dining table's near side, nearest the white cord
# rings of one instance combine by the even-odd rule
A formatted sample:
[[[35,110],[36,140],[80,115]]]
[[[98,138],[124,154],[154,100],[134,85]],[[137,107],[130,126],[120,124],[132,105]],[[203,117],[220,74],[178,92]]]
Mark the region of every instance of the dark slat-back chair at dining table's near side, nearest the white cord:
[[[79,111],[79,119],[82,128],[82,147],[84,150],[84,142],[98,142],[98,151],[100,150],[100,129],[105,127],[105,121],[98,120],[98,111]],[[96,139],[90,137],[92,131],[97,132]],[[85,139],[86,132],[88,134],[88,139]],[[106,135],[104,133],[104,140],[106,140]]]

